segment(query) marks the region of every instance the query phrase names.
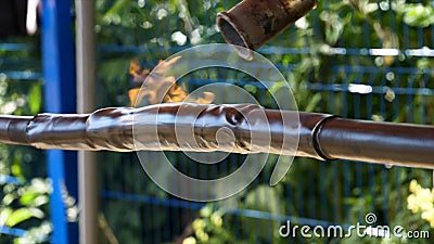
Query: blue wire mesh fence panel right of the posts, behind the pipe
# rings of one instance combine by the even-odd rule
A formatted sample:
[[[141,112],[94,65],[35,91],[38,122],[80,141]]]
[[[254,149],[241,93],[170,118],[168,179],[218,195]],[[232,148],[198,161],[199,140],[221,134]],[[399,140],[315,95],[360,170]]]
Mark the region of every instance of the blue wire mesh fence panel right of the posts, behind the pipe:
[[[130,105],[129,91],[140,87],[135,77],[141,74],[144,79],[145,70],[159,60],[197,44],[222,43],[215,16],[237,3],[97,1],[100,106]],[[432,8],[429,1],[319,1],[310,14],[258,52],[286,78],[299,111],[433,125]],[[270,91],[241,72],[205,68],[178,84],[188,92],[209,84],[234,85],[260,105],[276,108]],[[221,103],[232,103],[237,97],[231,89],[209,92]],[[202,165],[183,153],[165,155],[180,171],[201,179],[226,176],[245,157],[232,154],[219,164]],[[361,241],[353,232],[335,239],[284,236],[279,230],[288,221],[310,228],[366,224],[368,214],[376,218],[373,227],[430,230],[430,223],[407,205],[410,181],[432,185],[430,170],[295,158],[283,180],[270,187],[277,160],[270,155],[265,169],[241,193],[196,203],[161,190],[133,153],[100,156],[102,209],[120,243],[355,243]],[[200,157],[213,160],[214,155]],[[150,153],[148,160],[158,165],[162,158]]]

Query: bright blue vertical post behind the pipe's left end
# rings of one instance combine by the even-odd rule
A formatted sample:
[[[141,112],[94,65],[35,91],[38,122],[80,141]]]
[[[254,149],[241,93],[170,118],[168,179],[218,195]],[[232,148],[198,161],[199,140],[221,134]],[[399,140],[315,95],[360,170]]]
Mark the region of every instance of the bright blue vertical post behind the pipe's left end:
[[[44,104],[48,113],[76,112],[75,52],[71,0],[42,1],[42,66]],[[77,198],[77,153],[47,151],[49,177],[53,193],[50,198],[52,243],[78,243],[78,224],[68,223],[62,198],[65,190]]]

